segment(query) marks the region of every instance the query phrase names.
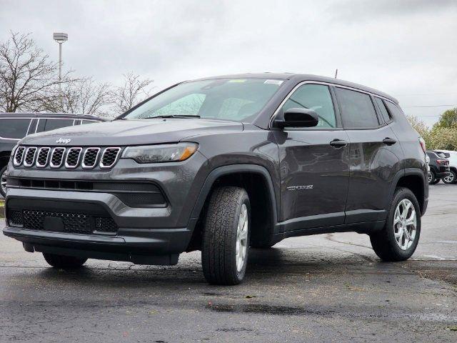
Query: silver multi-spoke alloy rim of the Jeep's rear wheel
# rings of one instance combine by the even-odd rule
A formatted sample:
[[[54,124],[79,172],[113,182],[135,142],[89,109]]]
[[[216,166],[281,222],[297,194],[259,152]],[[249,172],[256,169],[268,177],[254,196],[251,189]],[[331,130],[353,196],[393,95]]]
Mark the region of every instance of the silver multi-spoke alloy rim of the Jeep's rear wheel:
[[[413,245],[416,238],[417,217],[416,209],[409,199],[403,199],[398,203],[393,216],[393,233],[402,250],[407,250]]]

